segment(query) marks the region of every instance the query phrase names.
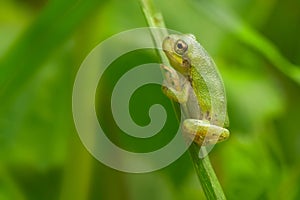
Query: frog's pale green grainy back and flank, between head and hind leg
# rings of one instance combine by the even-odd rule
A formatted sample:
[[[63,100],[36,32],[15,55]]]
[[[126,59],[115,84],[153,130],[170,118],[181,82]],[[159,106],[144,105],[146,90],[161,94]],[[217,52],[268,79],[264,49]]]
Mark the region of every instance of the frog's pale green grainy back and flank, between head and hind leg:
[[[201,116],[212,124],[223,126],[226,121],[226,96],[219,71],[205,49],[197,42],[189,46],[192,52],[191,83]]]

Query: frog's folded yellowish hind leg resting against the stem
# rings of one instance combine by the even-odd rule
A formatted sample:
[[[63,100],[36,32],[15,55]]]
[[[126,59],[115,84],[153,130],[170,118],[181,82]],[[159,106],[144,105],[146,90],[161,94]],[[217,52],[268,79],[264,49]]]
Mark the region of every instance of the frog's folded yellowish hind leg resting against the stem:
[[[199,146],[222,142],[229,137],[229,131],[227,129],[198,119],[184,120],[183,132]]]

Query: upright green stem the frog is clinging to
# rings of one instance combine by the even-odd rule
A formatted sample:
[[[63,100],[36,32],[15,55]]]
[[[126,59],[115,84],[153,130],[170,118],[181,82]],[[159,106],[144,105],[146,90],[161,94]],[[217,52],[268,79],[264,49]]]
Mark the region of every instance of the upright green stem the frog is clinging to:
[[[155,9],[152,0],[140,0],[140,3],[149,27],[163,28],[159,33],[152,32],[154,43],[157,47],[159,47],[162,44],[163,38],[168,35],[168,32],[165,29],[165,24],[163,21],[162,14]],[[159,55],[162,59],[162,63],[165,65],[169,65],[166,56],[162,52],[159,52]],[[182,106],[184,107],[185,105]],[[184,107],[182,110],[188,110],[188,109]],[[183,113],[183,114],[185,116],[189,116],[188,113]],[[180,119],[180,116],[177,116],[177,119]],[[205,150],[204,149],[200,150],[199,147],[194,143],[189,147],[189,152],[192,157],[195,171],[200,180],[206,198],[209,200],[226,199],[222,187],[212,168],[209,157],[206,156],[204,158],[199,158],[199,151],[205,151]]]

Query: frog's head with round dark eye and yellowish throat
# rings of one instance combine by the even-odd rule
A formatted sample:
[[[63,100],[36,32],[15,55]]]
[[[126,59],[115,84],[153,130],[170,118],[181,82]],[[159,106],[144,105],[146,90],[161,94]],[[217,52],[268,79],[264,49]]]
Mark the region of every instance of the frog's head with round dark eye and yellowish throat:
[[[167,36],[163,41],[162,48],[170,64],[183,75],[189,73],[190,54],[193,51],[193,44],[195,42],[195,36],[191,34],[172,34]]]

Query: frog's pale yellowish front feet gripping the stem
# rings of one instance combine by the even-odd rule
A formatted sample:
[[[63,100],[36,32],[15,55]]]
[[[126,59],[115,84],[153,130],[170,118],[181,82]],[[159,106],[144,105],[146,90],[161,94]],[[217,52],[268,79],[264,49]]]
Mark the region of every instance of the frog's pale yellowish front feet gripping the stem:
[[[163,93],[178,103],[187,102],[189,85],[185,78],[179,77],[171,67],[161,65],[161,68],[165,71],[165,80],[162,85]]]

